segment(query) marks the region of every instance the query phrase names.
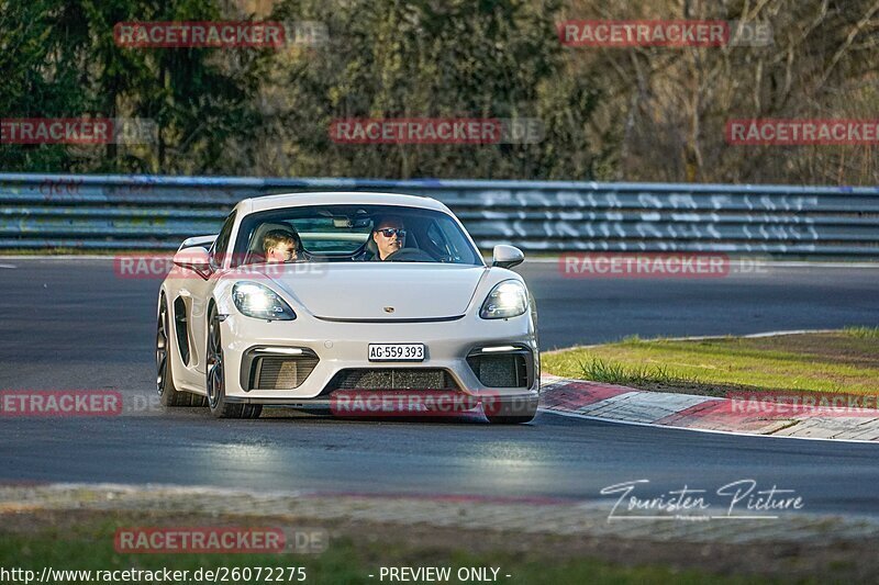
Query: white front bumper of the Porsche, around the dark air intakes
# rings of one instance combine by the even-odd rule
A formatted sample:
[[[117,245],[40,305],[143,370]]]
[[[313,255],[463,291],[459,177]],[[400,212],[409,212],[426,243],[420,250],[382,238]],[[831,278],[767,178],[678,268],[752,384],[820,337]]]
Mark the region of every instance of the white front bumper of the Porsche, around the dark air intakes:
[[[221,331],[225,393],[230,402],[321,407],[329,402],[329,393],[336,390],[334,381],[341,372],[392,369],[442,370],[455,390],[476,397],[491,396],[512,403],[536,401],[539,395],[539,353],[530,313],[509,319],[481,319],[468,314],[444,320],[366,323],[310,315],[299,315],[294,320],[266,322],[233,312],[223,319]],[[419,362],[369,361],[369,344],[424,344],[425,359]],[[526,379],[515,387],[483,384],[467,360],[483,348],[489,348],[492,355],[524,356]],[[312,357],[311,371],[296,387],[260,389],[253,383],[255,355],[278,358],[305,355]]]

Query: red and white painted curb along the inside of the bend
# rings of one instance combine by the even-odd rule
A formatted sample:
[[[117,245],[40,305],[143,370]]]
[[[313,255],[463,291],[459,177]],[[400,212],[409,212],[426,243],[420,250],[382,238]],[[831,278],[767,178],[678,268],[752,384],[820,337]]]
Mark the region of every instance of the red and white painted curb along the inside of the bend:
[[[730,398],[646,392],[552,374],[543,374],[541,382],[541,410],[563,416],[735,435],[879,441],[879,413],[822,416],[754,412],[733,407]]]

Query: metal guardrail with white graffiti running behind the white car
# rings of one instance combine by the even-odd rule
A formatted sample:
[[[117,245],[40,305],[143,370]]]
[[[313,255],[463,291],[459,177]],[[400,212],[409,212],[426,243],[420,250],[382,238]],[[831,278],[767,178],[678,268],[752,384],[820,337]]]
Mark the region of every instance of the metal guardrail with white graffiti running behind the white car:
[[[240,200],[385,191],[446,203],[486,249],[879,257],[879,188],[0,173],[0,249],[170,249]]]

